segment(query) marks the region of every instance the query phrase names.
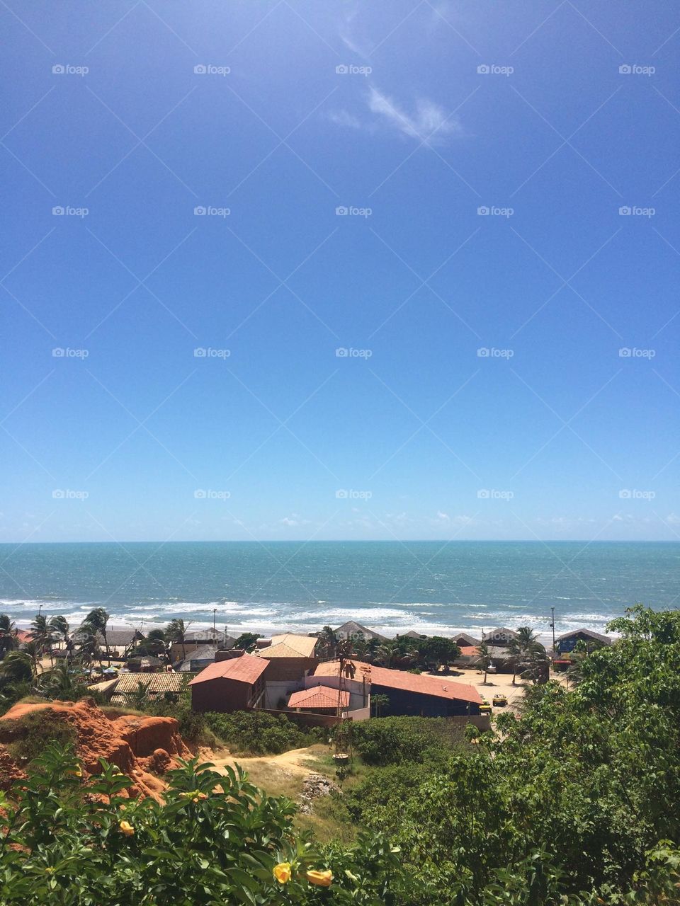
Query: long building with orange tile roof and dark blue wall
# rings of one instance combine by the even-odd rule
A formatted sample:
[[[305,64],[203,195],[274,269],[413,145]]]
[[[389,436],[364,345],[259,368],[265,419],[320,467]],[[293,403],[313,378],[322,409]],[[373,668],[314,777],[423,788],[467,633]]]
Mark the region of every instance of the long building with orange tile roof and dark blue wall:
[[[369,695],[385,695],[389,699],[389,704],[382,708],[384,716],[447,718],[476,717],[480,714],[480,694],[467,683],[406,673],[403,670],[389,670],[360,660],[348,660],[345,665],[348,665],[351,676],[350,679],[344,679],[344,686],[351,693],[360,697],[363,690],[364,701],[368,700]],[[335,685],[336,688],[339,675],[339,660],[319,664],[314,671],[314,679],[325,685]],[[308,680],[306,685],[311,685],[311,682]],[[350,701],[350,708],[352,707],[354,702]]]

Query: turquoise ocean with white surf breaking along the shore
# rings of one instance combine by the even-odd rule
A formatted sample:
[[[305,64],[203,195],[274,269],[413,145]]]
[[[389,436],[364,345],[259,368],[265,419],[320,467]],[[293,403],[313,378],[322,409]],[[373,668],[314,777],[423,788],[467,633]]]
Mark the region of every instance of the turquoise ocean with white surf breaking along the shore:
[[[356,620],[387,635],[529,625],[602,630],[634,602],[680,601],[680,544],[626,542],[176,542],[0,545],[0,612],[42,604],[76,625],[311,631]],[[213,614],[213,612],[215,612]]]

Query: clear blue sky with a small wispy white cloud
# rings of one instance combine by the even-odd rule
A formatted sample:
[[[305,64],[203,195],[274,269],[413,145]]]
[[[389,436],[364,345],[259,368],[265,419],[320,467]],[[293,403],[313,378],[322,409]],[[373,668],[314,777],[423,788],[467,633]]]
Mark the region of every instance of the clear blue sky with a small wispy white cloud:
[[[0,540],[678,539],[675,5],[0,20]]]

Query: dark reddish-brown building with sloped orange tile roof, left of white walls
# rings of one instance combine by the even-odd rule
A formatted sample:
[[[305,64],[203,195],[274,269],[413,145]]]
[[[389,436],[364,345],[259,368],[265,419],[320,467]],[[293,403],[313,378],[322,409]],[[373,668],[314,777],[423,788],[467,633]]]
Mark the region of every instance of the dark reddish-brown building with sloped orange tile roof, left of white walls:
[[[269,664],[252,654],[210,664],[189,682],[191,709],[224,713],[263,707]]]

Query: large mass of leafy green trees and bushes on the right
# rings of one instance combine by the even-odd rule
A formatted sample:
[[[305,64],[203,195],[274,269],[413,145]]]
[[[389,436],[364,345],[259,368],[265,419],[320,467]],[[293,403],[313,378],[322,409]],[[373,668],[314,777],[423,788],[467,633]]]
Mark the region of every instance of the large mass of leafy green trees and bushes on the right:
[[[366,760],[391,766],[338,807],[401,847],[414,903],[435,888],[496,902],[499,884],[520,891],[499,902],[680,902],[670,871],[665,900],[645,899],[640,873],[680,841],[680,613],[638,607],[611,628],[622,639],[580,661],[577,689],[529,688],[472,751],[419,746],[407,718],[358,732]]]

